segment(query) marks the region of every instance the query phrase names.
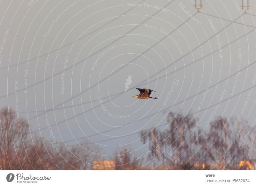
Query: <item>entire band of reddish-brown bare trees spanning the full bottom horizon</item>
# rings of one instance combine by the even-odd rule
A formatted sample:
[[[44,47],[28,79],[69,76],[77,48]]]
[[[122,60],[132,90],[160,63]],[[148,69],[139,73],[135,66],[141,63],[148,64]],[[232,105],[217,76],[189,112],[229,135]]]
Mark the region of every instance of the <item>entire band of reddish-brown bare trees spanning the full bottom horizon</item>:
[[[18,115],[19,116],[19,115]],[[252,170],[255,169],[256,128],[243,120],[217,118],[208,128],[196,127],[196,119],[170,112],[169,126],[141,132],[149,150],[136,157],[125,147],[114,160],[96,159],[88,146],[64,143],[52,146],[32,136],[28,122],[7,107],[0,110],[1,170]],[[93,148],[95,151],[95,148]],[[143,166],[144,157],[155,165]],[[142,158],[143,157],[143,158]],[[92,165],[88,166],[88,162]],[[145,162],[146,163],[146,162]]]

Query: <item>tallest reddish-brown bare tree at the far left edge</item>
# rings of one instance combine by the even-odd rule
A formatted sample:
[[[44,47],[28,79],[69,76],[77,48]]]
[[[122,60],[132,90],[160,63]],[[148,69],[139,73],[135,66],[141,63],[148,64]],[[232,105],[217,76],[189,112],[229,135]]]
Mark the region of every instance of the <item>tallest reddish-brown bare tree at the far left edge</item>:
[[[0,166],[2,170],[22,169],[26,156],[28,123],[14,110],[0,110]]]

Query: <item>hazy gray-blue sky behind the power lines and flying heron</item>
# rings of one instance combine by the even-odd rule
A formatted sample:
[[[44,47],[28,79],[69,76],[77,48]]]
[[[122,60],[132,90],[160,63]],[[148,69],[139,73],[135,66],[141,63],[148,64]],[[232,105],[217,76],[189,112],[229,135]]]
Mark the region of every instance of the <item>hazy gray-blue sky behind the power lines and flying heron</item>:
[[[92,141],[100,141],[166,123],[166,112],[162,112],[163,109],[207,89],[236,73],[237,69],[253,63],[256,59],[254,52],[256,32],[250,32],[255,27],[256,17],[250,15],[256,14],[255,1],[250,1],[249,14],[239,17],[243,12],[240,11],[240,7],[236,7],[236,4],[240,6],[241,1],[203,0],[203,9],[201,13],[193,17],[195,20],[190,19],[180,26],[191,14],[196,13],[193,1],[176,0],[164,11],[148,19],[157,12],[157,7],[164,7],[170,1],[145,0],[140,6],[102,27],[116,16],[131,9],[131,4],[139,2],[135,0],[102,0],[99,2],[38,0],[33,4],[28,0],[19,3],[1,1],[0,43],[4,45],[0,53],[1,105],[15,109],[15,104],[18,104],[17,111],[20,112],[20,116],[29,121],[31,131],[39,127],[47,127],[45,119],[48,119],[51,125],[64,121],[58,125],[58,128],[52,126],[52,131],[58,141],[72,140],[117,128],[90,138]],[[214,36],[214,31],[219,32],[230,23],[224,19],[234,20],[236,18],[238,18],[236,22],[242,24],[231,23],[218,36]],[[146,19],[148,20],[141,24]],[[133,29],[134,27],[136,28]],[[167,33],[176,27],[179,28],[168,36]],[[130,30],[132,31],[129,34],[124,35]],[[250,34],[245,35],[247,32]],[[88,35],[88,33],[91,34]],[[77,40],[84,35],[87,36]],[[236,40],[242,35],[245,36]],[[150,49],[164,36],[166,38],[163,41]],[[207,41],[208,38],[211,39]],[[118,40],[115,41],[116,39]],[[234,40],[236,41],[227,45]],[[47,54],[73,41],[76,42]],[[203,42],[204,44],[198,47]],[[109,45],[109,43],[112,44]],[[106,47],[107,45],[109,46]],[[198,48],[193,50],[196,47]],[[140,56],[147,49],[149,50]],[[220,50],[200,59],[217,49]],[[100,51],[95,53],[98,50]],[[191,50],[193,52],[182,58]],[[36,58],[43,54],[47,55]],[[90,57],[87,58],[88,56]],[[86,58],[87,60],[84,60]],[[134,58],[136,60],[131,62]],[[177,61],[177,59],[180,60]],[[193,63],[193,61],[196,62]],[[170,66],[173,62],[175,65]],[[17,65],[17,63],[20,64]],[[190,63],[192,64],[186,66]],[[65,65],[71,68],[63,70]],[[166,66],[169,67],[166,68]],[[186,67],[182,68],[184,66]],[[224,100],[250,88],[255,80],[255,66],[253,64],[240,74],[209,89],[199,110],[218,103],[222,96],[221,99]],[[61,71],[64,71],[63,74]],[[161,72],[157,73],[159,71]],[[173,71],[174,73],[164,76]],[[48,78],[57,73],[60,74]],[[148,79],[156,73],[157,76]],[[131,84],[124,93],[126,79],[129,75],[132,76]],[[164,77],[159,78],[161,76]],[[15,78],[17,78],[16,81]],[[45,78],[48,79],[43,81]],[[155,79],[157,81],[152,81]],[[174,85],[173,82],[177,80],[179,83]],[[42,82],[34,86],[40,81]],[[97,84],[99,81],[100,83]],[[141,85],[142,81],[146,84]],[[22,90],[17,94],[5,96],[15,92],[15,88],[24,89],[26,85],[31,87],[25,92]],[[92,85],[95,86],[82,93],[81,96],[65,102]],[[155,90],[152,97],[158,97],[158,99],[137,100],[132,97],[139,94],[136,87],[133,88],[134,86]],[[224,94],[223,90],[226,90]],[[119,92],[123,93],[116,98],[112,96]],[[248,90],[221,103],[217,109],[213,106],[203,112],[198,112],[196,117],[200,119],[199,126],[205,128],[205,123],[209,121],[212,114],[227,118],[239,116],[253,125],[256,115],[255,95],[256,89],[251,89],[251,93]],[[166,99],[167,96],[170,96],[169,100]],[[103,99],[104,97],[107,98]],[[198,94],[173,106],[171,111],[180,111],[183,114],[193,113],[202,103],[203,97],[203,93]],[[247,97],[250,99],[248,100]],[[61,105],[63,102],[65,103]],[[84,102],[88,103],[72,106]],[[45,113],[40,115],[41,112],[37,112],[38,117],[35,117],[36,112],[27,114],[27,111],[47,110],[56,105],[60,105],[58,108],[69,107],[55,108],[54,111],[47,112],[47,115]],[[87,110],[90,111],[85,112]],[[241,110],[244,111],[243,114],[240,114]],[[156,112],[159,113],[142,119]],[[66,119],[68,120],[65,121]],[[126,124],[129,125],[118,128]],[[159,129],[164,129],[164,127]],[[51,140],[48,129],[37,133],[44,136],[46,140]],[[67,144],[76,143],[72,141]],[[140,143],[139,135],[109,140],[100,143],[99,146],[102,149],[102,155],[111,156],[116,148],[121,149],[125,144],[130,144],[132,149],[137,151],[148,148]]]

